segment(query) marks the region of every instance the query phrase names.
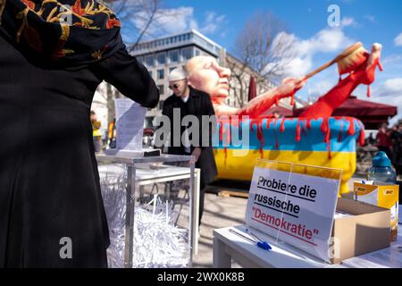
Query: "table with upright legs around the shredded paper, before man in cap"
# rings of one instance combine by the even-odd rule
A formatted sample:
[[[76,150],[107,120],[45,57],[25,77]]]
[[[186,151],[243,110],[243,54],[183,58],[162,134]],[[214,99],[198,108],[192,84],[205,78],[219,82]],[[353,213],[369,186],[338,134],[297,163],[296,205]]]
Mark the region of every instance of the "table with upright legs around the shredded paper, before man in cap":
[[[192,156],[155,156],[155,157],[133,157],[133,156],[109,156],[96,155],[98,163],[118,163],[125,164],[127,168],[127,207],[126,207],[126,237],[125,237],[125,267],[132,267],[133,259],[133,228],[134,228],[134,208],[135,208],[135,190],[137,187],[148,184],[176,181],[189,179],[190,190],[189,197],[189,243],[192,251],[190,251],[190,262],[197,254],[198,249],[198,208],[199,208],[199,186],[200,186],[200,170],[195,168],[195,164],[191,162]],[[177,163],[187,162],[188,168],[179,168],[169,166],[159,170],[144,169],[141,166],[150,163]],[[100,172],[102,167],[99,166]]]

